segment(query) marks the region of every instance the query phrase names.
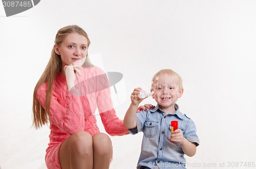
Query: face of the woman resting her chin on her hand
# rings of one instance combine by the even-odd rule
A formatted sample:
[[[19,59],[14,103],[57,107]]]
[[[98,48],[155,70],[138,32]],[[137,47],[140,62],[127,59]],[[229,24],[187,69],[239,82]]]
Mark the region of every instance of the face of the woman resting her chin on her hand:
[[[75,61],[76,64],[81,61],[80,64],[82,65],[87,56],[87,48],[87,38],[78,33],[70,33],[60,45],[54,45],[55,52],[60,55],[61,58],[62,70],[63,67]]]

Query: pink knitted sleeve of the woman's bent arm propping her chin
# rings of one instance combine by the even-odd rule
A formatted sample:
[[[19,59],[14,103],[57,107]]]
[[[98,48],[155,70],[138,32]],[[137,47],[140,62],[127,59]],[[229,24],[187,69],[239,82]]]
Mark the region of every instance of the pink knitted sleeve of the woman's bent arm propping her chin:
[[[58,91],[57,89],[55,91]],[[42,107],[46,107],[47,83],[43,83],[37,90],[37,99]],[[53,91],[50,105],[50,120],[61,131],[71,135],[78,131],[83,131],[84,114],[79,96],[66,91],[66,103],[59,103],[58,97],[65,97],[65,92],[59,89],[58,93]],[[58,95],[57,95],[58,94]],[[63,101],[64,102],[64,101]]]

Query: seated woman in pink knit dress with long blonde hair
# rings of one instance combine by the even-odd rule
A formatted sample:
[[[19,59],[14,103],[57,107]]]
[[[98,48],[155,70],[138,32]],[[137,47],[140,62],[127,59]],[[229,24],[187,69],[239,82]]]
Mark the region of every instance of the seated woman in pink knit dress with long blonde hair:
[[[80,27],[61,28],[35,86],[33,125],[38,129],[48,119],[50,122],[48,168],[109,168],[112,142],[99,132],[94,115],[97,106],[106,132],[129,133],[116,116],[108,79],[90,63],[89,45],[88,35]]]

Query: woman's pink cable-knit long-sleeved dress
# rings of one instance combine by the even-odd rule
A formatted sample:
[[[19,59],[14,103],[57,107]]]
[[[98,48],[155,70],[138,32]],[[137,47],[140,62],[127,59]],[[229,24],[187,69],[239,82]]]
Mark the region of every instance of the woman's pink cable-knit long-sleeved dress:
[[[81,68],[82,77],[77,77],[75,88],[67,90],[66,77],[58,73],[53,82],[50,106],[50,142],[46,149],[46,165],[49,169],[60,168],[59,148],[63,140],[78,131],[87,131],[92,136],[99,133],[95,110],[105,131],[110,135],[129,134],[123,120],[116,116],[111,99],[109,81],[98,67]],[[37,99],[46,107],[47,83],[37,90]]]

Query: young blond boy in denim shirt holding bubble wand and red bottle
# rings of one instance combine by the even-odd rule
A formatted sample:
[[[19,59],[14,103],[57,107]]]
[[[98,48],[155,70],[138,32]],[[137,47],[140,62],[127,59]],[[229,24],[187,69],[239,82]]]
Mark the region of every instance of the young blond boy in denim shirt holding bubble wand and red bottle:
[[[131,134],[144,133],[137,168],[185,168],[184,154],[194,156],[199,139],[194,122],[176,104],[183,94],[181,77],[170,69],[158,71],[151,87],[157,106],[136,113],[143,100],[141,90],[135,88],[131,94],[132,103],[123,122]],[[172,120],[178,121],[178,129],[171,135]]]

